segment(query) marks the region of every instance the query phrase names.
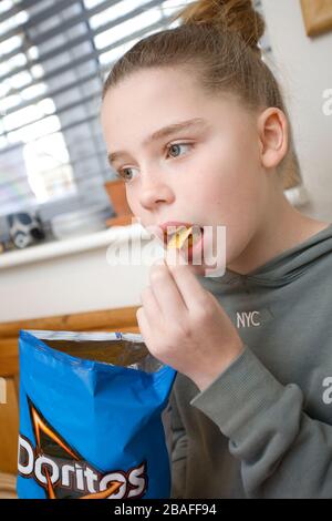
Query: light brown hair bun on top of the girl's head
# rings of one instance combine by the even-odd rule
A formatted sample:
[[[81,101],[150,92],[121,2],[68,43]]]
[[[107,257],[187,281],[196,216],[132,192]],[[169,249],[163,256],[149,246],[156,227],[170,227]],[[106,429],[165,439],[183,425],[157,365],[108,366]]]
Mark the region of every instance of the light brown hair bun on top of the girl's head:
[[[251,0],[198,0],[176,14],[183,24],[207,23],[220,30],[225,27],[242,37],[248,47],[260,53],[258,42],[266,23]]]

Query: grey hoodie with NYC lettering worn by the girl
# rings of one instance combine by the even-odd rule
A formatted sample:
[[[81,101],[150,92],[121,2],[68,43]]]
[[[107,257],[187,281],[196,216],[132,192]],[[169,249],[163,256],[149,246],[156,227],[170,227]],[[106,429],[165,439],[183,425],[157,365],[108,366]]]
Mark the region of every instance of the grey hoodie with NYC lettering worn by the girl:
[[[199,276],[245,351],[207,389],[177,375],[174,498],[332,498],[332,224],[246,276]]]

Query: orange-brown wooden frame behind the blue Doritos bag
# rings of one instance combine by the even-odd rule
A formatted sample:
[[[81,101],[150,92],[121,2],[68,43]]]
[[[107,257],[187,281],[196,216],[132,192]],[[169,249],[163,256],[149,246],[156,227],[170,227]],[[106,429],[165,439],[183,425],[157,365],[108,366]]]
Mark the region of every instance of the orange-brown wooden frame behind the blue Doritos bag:
[[[139,333],[136,320],[137,309],[138,307],[134,306],[0,324],[0,377],[4,378],[7,384],[7,403],[0,405],[0,493],[1,487],[4,490],[6,483],[8,483],[8,478],[6,483],[1,482],[1,472],[12,476],[17,472],[19,433],[18,336],[20,329]]]

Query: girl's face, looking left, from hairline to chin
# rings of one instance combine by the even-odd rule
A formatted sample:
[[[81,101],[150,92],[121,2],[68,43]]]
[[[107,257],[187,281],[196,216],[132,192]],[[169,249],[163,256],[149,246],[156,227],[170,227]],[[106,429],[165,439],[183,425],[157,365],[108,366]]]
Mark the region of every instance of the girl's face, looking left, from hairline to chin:
[[[143,70],[111,88],[104,137],[141,224],[193,223],[210,226],[214,237],[226,226],[226,264],[236,259],[267,211],[257,118],[230,94],[207,95],[180,68]],[[206,241],[205,233],[205,251]]]

